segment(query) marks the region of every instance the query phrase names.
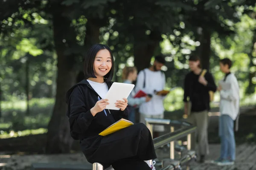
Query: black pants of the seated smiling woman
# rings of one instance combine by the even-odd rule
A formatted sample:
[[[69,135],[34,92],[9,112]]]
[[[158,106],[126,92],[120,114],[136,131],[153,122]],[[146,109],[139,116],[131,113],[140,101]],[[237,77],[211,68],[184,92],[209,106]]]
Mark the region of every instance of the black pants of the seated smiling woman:
[[[137,123],[104,136],[90,161],[105,168],[112,165],[115,170],[150,170],[144,160],[156,158],[150,131],[143,123]]]

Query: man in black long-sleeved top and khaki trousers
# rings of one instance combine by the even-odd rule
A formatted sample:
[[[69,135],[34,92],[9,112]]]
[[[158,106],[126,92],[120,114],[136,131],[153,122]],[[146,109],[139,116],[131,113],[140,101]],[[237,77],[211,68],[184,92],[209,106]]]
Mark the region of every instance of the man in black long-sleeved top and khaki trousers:
[[[188,115],[187,122],[197,126],[198,150],[200,162],[203,163],[205,156],[209,154],[208,146],[208,112],[210,110],[209,91],[215,92],[215,85],[212,74],[201,68],[200,58],[198,56],[189,57],[190,72],[186,75],[184,81],[184,111]],[[204,74],[204,75],[202,75]],[[195,142],[195,139],[191,139]]]

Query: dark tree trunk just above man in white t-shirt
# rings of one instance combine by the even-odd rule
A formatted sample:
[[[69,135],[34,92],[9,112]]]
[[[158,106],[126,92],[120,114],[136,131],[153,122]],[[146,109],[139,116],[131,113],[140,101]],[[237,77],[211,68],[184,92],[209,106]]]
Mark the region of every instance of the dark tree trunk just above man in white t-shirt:
[[[151,58],[161,40],[161,34],[154,31],[149,36],[150,40],[147,40],[145,31],[142,31],[140,35],[144,37],[134,35],[134,65],[138,72],[150,66]]]

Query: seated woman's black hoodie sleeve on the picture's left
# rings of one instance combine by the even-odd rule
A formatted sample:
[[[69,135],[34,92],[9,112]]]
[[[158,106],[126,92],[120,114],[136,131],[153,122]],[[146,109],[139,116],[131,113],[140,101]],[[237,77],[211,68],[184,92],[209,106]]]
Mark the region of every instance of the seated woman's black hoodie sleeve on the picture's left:
[[[79,87],[74,88],[70,95],[70,130],[75,133],[84,133],[90,126],[93,119],[96,118],[90,112],[91,108],[86,108],[84,95]]]

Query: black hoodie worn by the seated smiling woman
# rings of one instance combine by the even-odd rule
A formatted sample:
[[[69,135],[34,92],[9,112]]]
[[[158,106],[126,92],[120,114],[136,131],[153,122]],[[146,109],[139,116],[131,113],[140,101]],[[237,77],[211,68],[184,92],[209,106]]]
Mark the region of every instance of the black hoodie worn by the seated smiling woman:
[[[113,82],[105,81],[108,88],[111,87]],[[99,94],[93,90],[87,80],[82,80],[78,84],[74,85],[67,91],[66,103],[67,103],[67,116],[70,123],[70,134],[75,140],[83,140],[81,144],[88,149],[83,150],[89,154],[93,148],[96,148],[102,136],[99,133],[105,130],[108,126],[121,118],[128,119],[128,113],[125,111],[106,110],[107,116],[104,111],[92,115],[90,109],[98,101]],[[83,148],[84,148],[83,147]]]

